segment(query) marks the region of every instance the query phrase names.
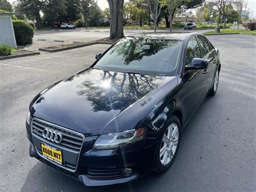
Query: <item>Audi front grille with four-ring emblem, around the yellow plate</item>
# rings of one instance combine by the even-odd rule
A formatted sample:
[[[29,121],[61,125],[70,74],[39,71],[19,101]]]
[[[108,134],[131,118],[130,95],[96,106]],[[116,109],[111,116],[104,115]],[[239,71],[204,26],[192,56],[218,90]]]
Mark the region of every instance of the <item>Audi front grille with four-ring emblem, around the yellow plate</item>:
[[[52,161],[51,163],[64,168],[65,170],[76,172],[79,155],[84,141],[83,134],[59,125],[45,122],[38,118],[32,119],[31,132],[33,136],[33,143],[40,157],[46,159],[42,155],[40,143],[47,143],[48,145],[56,147],[63,152],[63,164],[56,164]],[[54,138],[54,136],[56,136],[56,138]],[[49,161],[48,159],[46,160]]]

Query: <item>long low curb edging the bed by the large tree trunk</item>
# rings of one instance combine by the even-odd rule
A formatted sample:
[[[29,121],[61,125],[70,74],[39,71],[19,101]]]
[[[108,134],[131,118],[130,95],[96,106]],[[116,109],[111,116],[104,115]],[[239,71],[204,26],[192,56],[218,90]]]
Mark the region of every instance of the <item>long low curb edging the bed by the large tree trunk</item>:
[[[60,48],[56,48],[56,49],[48,49],[46,48],[39,48],[39,51],[45,51],[45,52],[59,52],[59,51],[67,51],[69,49],[76,49],[76,48],[80,48],[80,47],[86,47],[86,46],[90,46],[90,45],[95,45],[95,44],[108,44],[108,45],[112,45],[112,42],[100,42],[100,41],[96,41],[96,42],[87,42],[87,43],[83,43],[83,44],[74,44],[71,45],[70,47],[60,47]]]

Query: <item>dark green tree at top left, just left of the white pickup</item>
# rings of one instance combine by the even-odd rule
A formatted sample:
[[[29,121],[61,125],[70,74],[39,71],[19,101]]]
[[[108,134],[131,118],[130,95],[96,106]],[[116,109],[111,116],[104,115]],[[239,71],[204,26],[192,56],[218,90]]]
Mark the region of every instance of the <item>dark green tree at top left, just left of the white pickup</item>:
[[[44,17],[47,23],[55,28],[55,22],[60,15],[67,15],[66,0],[45,0],[44,1]]]

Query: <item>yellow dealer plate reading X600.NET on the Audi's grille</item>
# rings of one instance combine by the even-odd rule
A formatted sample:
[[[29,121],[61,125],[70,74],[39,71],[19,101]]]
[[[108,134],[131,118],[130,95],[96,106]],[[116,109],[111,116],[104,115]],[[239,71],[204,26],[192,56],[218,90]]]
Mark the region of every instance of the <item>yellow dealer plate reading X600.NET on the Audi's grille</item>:
[[[54,163],[62,164],[62,152],[55,147],[51,147],[45,143],[41,143],[42,155],[53,161]]]

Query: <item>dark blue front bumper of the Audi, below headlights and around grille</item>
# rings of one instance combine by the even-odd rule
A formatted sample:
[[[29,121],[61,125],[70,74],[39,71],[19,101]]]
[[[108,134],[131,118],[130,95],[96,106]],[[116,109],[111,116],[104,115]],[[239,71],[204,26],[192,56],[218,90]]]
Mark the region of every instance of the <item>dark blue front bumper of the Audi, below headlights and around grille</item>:
[[[97,136],[88,136],[81,148],[76,170],[65,170],[65,168],[40,155],[40,151],[38,148],[36,150],[34,143],[40,143],[41,140],[31,136],[29,127],[27,127],[27,135],[31,141],[29,147],[31,157],[36,157],[36,159],[52,166],[59,172],[80,180],[85,186],[104,186],[130,182],[147,175],[152,170],[154,163],[156,143],[144,147],[145,142],[140,141],[122,149],[92,150]],[[45,143],[45,140],[43,142]],[[46,144],[52,145],[51,142],[47,143],[47,141]],[[130,168],[132,172],[125,173],[125,168]]]

